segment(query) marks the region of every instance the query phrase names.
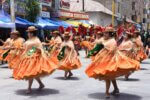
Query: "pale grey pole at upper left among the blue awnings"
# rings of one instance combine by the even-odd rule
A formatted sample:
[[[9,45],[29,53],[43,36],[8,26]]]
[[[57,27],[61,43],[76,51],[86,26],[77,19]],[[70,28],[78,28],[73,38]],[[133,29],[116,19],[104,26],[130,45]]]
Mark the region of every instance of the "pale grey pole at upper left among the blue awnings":
[[[15,25],[15,2],[14,0],[10,0],[10,14],[11,14],[11,22],[14,24],[14,28],[12,31],[16,30],[16,25]]]

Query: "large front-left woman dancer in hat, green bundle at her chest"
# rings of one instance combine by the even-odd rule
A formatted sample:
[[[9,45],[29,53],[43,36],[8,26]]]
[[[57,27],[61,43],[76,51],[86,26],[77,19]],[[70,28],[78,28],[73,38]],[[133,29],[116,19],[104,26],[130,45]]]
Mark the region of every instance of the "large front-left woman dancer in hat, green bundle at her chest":
[[[37,37],[37,29],[34,26],[28,27],[28,40],[24,43],[23,53],[20,59],[13,64],[13,77],[16,80],[28,80],[27,94],[32,92],[32,83],[35,79],[39,83],[39,89],[44,88],[41,77],[52,74],[57,65],[49,59],[44,52],[42,43]]]

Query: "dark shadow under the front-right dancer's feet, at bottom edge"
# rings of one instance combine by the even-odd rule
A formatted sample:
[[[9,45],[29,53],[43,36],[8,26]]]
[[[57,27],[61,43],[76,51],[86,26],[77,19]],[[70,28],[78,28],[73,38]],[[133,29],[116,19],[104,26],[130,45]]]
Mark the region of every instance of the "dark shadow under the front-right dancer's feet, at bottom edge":
[[[89,98],[97,100],[141,100],[142,97],[133,94],[121,93],[116,96],[112,96],[109,99],[105,98],[105,93],[92,93],[88,95]]]

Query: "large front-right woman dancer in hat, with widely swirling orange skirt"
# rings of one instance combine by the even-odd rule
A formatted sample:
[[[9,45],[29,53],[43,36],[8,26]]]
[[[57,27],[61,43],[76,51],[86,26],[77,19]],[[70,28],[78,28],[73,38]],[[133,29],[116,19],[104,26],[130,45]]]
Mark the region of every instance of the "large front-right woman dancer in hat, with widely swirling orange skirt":
[[[119,93],[116,77],[126,75],[128,72],[139,68],[139,62],[126,57],[117,50],[117,43],[113,37],[114,29],[107,27],[104,33],[104,49],[95,57],[86,69],[89,77],[106,81],[106,98],[110,97],[111,82],[114,86],[113,94]]]

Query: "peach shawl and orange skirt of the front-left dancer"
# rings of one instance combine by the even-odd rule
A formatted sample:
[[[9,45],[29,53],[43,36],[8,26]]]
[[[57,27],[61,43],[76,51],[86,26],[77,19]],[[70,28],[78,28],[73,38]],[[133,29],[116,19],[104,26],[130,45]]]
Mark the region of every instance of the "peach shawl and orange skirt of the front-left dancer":
[[[29,56],[27,52],[32,47],[36,48],[36,52]],[[25,42],[24,51],[13,67],[13,77],[15,79],[28,80],[52,74],[57,68],[57,65],[44,52],[42,43],[35,37]]]

